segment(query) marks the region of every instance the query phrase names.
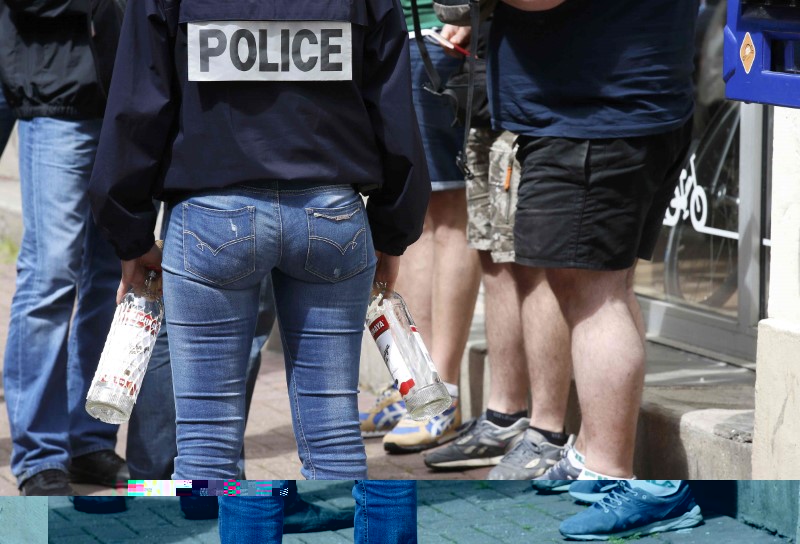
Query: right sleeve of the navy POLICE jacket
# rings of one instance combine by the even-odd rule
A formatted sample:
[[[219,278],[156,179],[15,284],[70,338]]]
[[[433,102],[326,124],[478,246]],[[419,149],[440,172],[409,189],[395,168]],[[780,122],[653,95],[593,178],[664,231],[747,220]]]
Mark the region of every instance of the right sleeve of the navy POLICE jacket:
[[[375,249],[401,255],[422,233],[431,184],[411,99],[408,31],[397,0],[366,39],[362,96],[382,155],[383,185],[370,193],[367,215]],[[379,9],[379,8],[377,8]]]

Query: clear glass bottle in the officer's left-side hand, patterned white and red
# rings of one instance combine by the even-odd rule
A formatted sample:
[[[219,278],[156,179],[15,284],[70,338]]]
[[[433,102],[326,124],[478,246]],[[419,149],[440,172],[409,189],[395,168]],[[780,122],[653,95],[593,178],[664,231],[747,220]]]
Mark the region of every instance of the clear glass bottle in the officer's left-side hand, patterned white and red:
[[[114,424],[128,421],[163,319],[161,274],[149,270],[144,286],[128,291],[117,306],[86,396],[92,417]]]

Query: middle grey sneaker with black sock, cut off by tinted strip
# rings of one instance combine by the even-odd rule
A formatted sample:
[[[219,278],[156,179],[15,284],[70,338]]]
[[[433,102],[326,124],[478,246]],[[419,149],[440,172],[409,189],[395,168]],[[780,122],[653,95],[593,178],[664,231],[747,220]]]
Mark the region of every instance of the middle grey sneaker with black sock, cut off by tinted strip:
[[[574,441],[570,437],[565,446],[556,446],[545,437],[528,428],[522,440],[500,460],[489,473],[490,480],[532,480],[555,465]]]

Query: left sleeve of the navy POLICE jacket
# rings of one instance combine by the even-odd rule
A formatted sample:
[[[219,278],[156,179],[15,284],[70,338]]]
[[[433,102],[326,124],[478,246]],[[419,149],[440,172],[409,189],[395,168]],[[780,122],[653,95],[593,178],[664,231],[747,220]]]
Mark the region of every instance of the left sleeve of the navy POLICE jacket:
[[[95,222],[124,260],[153,245],[152,195],[176,133],[176,17],[165,4],[128,2],[89,184]]]

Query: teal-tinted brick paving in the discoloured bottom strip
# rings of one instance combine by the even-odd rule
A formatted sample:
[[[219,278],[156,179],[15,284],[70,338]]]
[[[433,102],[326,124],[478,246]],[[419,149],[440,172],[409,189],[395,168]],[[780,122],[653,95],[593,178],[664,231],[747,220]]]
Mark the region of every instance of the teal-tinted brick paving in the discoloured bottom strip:
[[[306,500],[352,507],[348,482],[298,482]],[[527,482],[419,482],[418,526],[423,544],[564,542],[560,520],[583,507],[567,495],[544,496]],[[145,497],[129,501],[116,515],[75,511],[67,498],[50,498],[51,544],[212,543],[219,542],[216,521],[187,521],[176,498]],[[289,544],[344,544],[353,530],[287,535]],[[731,518],[706,512],[695,529],[637,540],[641,544],[787,544],[788,541]]]

